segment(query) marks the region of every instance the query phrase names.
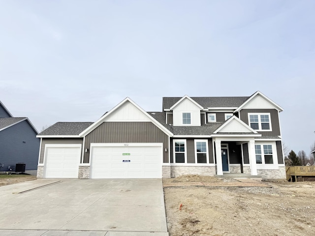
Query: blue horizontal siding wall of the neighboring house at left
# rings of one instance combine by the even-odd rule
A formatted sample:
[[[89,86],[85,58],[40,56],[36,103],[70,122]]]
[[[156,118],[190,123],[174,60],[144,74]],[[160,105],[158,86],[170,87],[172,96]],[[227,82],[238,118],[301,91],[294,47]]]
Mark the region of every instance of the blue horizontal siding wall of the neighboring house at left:
[[[37,170],[40,139],[27,120],[0,131],[0,171],[8,171],[15,164],[25,163],[25,170]]]

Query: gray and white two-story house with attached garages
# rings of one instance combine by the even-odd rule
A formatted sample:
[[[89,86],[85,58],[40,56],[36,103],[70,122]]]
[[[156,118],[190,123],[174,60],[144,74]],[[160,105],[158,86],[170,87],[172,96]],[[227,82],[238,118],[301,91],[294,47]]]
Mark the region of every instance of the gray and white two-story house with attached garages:
[[[145,112],[126,98],[93,123],[58,122],[41,132],[37,177],[283,179],[281,111],[259,91],[164,97],[162,112]]]

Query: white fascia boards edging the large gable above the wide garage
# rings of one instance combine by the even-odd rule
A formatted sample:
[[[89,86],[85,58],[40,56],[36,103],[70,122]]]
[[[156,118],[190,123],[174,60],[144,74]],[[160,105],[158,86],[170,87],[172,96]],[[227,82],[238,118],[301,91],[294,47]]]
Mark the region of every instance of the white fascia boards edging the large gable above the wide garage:
[[[162,130],[165,134],[168,136],[173,136],[173,134],[166,129],[164,126],[162,126],[155,118],[151,117],[146,111],[144,111],[141,107],[139,107],[134,101],[132,101],[129,97],[126,97],[122,102],[120,102],[118,105],[116,105],[113,109],[111,109],[109,112],[104,114],[101,118],[96,120],[92,125],[90,125],[88,128],[86,128],[84,131],[82,131],[79,136],[83,137],[90,133],[92,130],[94,130],[101,122],[103,122],[104,118],[108,117],[110,114],[115,112],[119,107],[121,107],[126,101],[130,102],[132,105],[134,105],[136,108],[138,108],[145,116],[147,116],[149,119],[152,120],[152,122],[158,126],[160,130]]]

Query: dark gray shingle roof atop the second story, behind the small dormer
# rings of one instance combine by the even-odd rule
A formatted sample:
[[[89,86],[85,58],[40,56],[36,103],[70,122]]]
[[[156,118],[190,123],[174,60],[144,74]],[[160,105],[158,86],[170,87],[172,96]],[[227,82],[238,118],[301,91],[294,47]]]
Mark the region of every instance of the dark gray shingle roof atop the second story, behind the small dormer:
[[[239,107],[250,97],[190,97],[204,108]],[[163,97],[163,109],[170,109],[182,97]]]

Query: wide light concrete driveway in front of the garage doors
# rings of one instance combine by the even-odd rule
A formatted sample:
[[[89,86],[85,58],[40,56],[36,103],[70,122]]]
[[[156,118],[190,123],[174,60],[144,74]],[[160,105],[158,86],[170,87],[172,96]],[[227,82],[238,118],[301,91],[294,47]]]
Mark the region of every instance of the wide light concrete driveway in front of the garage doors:
[[[0,203],[1,236],[168,236],[161,179],[37,179]]]

